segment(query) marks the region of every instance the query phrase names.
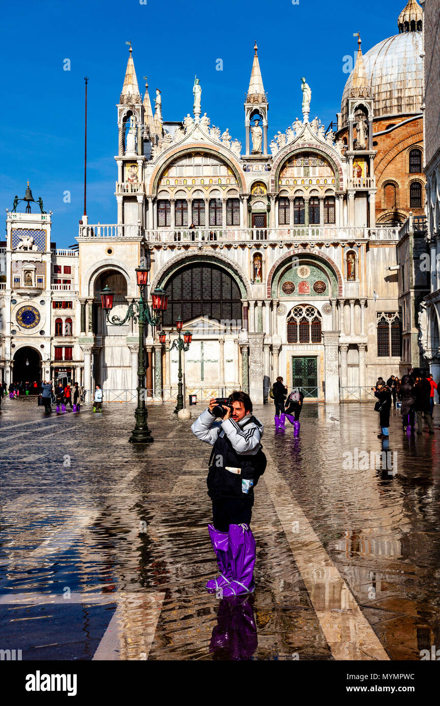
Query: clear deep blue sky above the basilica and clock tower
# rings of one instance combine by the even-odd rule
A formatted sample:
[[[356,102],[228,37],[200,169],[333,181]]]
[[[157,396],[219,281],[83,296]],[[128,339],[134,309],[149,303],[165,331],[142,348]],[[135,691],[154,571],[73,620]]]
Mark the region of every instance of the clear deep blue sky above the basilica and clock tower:
[[[145,2],[145,4],[143,4]],[[128,49],[141,90],[148,76],[154,104],[162,91],[165,120],[192,113],[194,75],[201,80],[202,113],[244,145],[244,93],[254,40],[269,100],[269,141],[301,114],[301,76],[311,86],[311,115],[328,126],[340,110],[347,73],[361,31],[362,49],[398,32],[405,0],[83,0],[3,6],[0,121],[0,203],[12,208],[26,180],[35,199],[53,211],[52,240],[75,242],[83,213],[84,81],[88,84],[89,222],[114,223],[117,109]],[[363,9],[362,9],[363,8]],[[11,31],[11,28],[15,28]],[[70,59],[71,71],[64,71]],[[222,59],[222,71],[217,71]],[[71,194],[64,203],[64,192]],[[37,207],[38,208],[38,207]],[[18,208],[20,210],[20,206]]]

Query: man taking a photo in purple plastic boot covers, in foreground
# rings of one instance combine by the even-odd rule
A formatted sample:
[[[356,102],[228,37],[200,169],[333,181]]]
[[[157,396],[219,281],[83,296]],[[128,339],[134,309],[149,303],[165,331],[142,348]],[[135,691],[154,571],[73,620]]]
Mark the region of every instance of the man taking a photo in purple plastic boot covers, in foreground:
[[[221,405],[211,399],[191,431],[213,446],[206,479],[213,503],[208,530],[220,576],[208,581],[206,588],[222,597],[251,593],[256,545],[249,523],[254,486],[266,469],[260,443],[263,424],[252,415],[249,395],[233,392]]]

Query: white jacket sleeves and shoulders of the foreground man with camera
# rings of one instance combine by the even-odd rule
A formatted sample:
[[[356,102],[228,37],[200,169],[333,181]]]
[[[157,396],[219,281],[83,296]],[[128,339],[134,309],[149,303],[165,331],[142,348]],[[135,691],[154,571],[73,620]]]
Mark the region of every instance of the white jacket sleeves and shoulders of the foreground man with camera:
[[[263,424],[256,417],[254,417],[256,421],[249,421],[252,416],[250,413],[246,414],[238,423],[232,418],[222,421],[218,417],[214,417],[209,409],[205,409],[192,424],[191,431],[194,436],[201,441],[206,441],[211,446],[215,444],[218,436],[226,434],[234,451],[243,455],[254,455],[260,448]]]

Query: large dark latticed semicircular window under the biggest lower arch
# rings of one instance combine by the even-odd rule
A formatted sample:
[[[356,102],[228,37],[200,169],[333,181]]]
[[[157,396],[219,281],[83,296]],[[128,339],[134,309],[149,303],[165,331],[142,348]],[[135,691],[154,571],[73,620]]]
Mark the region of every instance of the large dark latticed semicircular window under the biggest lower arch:
[[[191,321],[206,316],[220,321],[237,321],[241,328],[242,301],[237,282],[215,265],[189,264],[171,277],[164,287],[168,306],[165,326],[174,325],[178,316]]]

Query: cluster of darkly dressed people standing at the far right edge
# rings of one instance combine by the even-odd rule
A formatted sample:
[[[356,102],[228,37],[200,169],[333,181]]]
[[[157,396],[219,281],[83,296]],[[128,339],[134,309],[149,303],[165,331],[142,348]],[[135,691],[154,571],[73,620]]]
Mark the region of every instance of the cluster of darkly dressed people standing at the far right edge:
[[[417,434],[423,430],[423,417],[427,422],[429,433],[434,433],[434,394],[437,383],[431,373],[421,369],[410,369],[407,375],[400,380],[397,376],[391,376],[385,382],[379,378],[374,388],[374,396],[377,402],[374,407],[379,412],[379,424],[381,433],[378,438],[388,438],[391,399],[396,403],[400,400],[400,414],[402,414],[403,431],[415,431],[415,419],[417,417]]]

